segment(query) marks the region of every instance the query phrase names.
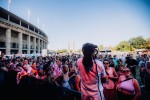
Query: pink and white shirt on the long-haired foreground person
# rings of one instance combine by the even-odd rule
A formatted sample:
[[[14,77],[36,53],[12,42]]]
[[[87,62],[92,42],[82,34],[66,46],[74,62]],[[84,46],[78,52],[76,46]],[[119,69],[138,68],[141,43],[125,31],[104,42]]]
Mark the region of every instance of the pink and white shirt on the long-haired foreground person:
[[[106,75],[104,66],[101,61],[95,60],[98,68],[99,73],[104,73],[104,76]],[[84,68],[84,65],[82,63],[82,58],[79,58],[77,60],[77,67],[79,70],[79,74],[81,77],[81,92],[85,96],[96,96],[100,95],[99,91],[103,90],[103,86],[101,82],[99,83],[99,89],[98,89],[98,75],[97,75],[97,69],[96,69],[96,64],[94,63],[93,60],[93,70],[86,73],[86,70]]]

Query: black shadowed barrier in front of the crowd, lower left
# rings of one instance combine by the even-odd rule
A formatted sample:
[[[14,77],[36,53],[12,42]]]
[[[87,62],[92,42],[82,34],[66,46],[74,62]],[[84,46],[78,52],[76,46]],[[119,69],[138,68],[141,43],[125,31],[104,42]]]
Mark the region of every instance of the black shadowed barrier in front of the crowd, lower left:
[[[0,71],[0,98],[81,100],[81,93],[78,91],[56,86],[34,77],[25,76],[17,85],[16,75],[15,71]]]

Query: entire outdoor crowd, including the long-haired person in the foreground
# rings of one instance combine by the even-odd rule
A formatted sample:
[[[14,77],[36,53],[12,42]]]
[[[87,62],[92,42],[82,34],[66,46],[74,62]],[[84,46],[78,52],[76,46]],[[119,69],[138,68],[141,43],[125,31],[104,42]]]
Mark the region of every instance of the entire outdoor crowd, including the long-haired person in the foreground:
[[[81,92],[82,100],[138,100],[142,86],[150,94],[150,57],[138,54],[98,54],[97,46],[84,44],[83,54],[0,58],[2,71],[15,71],[16,84],[24,76]],[[103,79],[103,80],[102,80]]]

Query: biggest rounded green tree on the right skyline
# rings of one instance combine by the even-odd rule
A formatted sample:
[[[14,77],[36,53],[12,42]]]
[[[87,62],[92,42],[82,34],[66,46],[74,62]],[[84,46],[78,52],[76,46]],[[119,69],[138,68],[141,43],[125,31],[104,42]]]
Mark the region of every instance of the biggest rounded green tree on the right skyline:
[[[130,44],[130,48],[143,49],[146,47],[146,40],[143,36],[131,38],[128,43]]]

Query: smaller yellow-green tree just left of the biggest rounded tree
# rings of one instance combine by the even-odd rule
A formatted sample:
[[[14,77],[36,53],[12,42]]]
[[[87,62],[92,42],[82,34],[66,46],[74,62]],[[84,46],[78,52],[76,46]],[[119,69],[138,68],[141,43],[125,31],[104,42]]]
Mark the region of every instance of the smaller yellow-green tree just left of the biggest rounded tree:
[[[130,50],[130,45],[127,41],[121,41],[116,46],[116,50],[118,50],[118,51],[129,51]]]

